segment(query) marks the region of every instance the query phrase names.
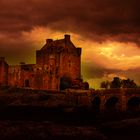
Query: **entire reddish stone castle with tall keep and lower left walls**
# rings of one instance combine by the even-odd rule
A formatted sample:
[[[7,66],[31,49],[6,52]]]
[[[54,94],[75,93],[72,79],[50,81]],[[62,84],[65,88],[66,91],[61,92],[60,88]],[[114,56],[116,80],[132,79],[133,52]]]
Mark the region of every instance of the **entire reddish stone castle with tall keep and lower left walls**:
[[[64,39],[47,39],[36,51],[36,64],[8,65],[0,58],[0,86],[61,90],[65,88],[88,88],[81,79],[81,48],[76,48],[65,35]]]

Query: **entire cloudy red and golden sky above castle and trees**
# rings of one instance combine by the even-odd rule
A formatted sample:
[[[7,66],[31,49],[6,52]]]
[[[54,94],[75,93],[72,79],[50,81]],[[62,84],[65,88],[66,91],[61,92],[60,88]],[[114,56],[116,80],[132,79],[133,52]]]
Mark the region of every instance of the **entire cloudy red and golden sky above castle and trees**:
[[[71,34],[93,88],[114,76],[140,85],[139,0],[0,0],[0,56],[35,63],[46,38]]]

